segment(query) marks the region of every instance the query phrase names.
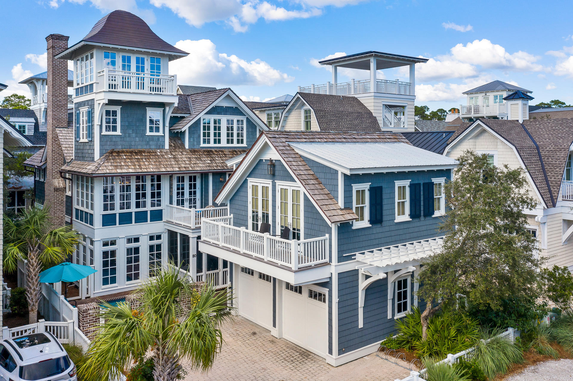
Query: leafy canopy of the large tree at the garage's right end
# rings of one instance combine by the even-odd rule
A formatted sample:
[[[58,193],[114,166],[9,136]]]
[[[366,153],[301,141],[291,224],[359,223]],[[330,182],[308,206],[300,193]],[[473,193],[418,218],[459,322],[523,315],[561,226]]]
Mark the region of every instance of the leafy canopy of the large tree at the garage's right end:
[[[446,232],[439,252],[422,261],[418,295],[426,300],[422,326],[458,295],[480,307],[501,308],[510,297],[539,295],[541,260],[525,225],[534,209],[522,169],[494,166],[485,154],[458,157],[445,185]]]

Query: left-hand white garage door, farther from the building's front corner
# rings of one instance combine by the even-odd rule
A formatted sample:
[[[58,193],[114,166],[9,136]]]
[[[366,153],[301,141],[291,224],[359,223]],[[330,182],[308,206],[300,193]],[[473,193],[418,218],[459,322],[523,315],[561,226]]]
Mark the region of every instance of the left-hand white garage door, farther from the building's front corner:
[[[238,272],[239,315],[267,330],[273,328],[272,281],[272,277],[250,268],[241,267]]]

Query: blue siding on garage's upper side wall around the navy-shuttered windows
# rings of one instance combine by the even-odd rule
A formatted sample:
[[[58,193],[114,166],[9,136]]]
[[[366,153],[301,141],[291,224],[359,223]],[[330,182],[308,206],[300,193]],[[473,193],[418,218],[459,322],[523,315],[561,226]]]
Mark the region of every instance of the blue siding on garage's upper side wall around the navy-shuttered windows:
[[[370,182],[370,186],[383,186],[384,211],[382,224],[371,227],[352,229],[350,223],[340,224],[338,228],[339,261],[352,260],[346,253],[358,252],[394,245],[429,237],[443,235],[437,231],[441,219],[439,217],[419,217],[411,221],[395,223],[395,184],[396,180],[411,180],[416,182],[431,181],[434,177],[450,178],[450,170],[429,170],[417,172],[374,173],[344,175],[344,207],[352,208],[352,184]],[[422,195],[423,198],[423,195]]]

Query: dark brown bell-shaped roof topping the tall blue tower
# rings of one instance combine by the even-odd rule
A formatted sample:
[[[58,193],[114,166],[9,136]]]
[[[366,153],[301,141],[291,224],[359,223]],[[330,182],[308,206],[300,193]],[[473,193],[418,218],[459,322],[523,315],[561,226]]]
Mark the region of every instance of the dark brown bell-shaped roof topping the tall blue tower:
[[[163,41],[145,21],[123,10],[115,10],[105,15],[96,22],[82,41],[167,51],[177,55],[189,54]]]

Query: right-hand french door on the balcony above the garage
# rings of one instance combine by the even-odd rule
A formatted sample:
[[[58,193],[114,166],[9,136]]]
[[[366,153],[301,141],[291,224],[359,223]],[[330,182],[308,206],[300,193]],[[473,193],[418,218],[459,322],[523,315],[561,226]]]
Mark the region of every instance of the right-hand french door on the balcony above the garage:
[[[298,186],[277,184],[277,235],[291,229],[289,239],[300,240],[303,231],[303,193]]]

